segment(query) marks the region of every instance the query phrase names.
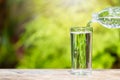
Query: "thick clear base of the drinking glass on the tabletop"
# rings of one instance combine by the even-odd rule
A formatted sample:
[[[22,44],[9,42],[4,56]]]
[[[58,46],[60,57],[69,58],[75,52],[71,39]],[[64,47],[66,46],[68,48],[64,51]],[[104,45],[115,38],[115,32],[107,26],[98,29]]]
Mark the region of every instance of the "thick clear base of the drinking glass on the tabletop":
[[[73,75],[91,75],[91,69],[72,69],[71,74]]]

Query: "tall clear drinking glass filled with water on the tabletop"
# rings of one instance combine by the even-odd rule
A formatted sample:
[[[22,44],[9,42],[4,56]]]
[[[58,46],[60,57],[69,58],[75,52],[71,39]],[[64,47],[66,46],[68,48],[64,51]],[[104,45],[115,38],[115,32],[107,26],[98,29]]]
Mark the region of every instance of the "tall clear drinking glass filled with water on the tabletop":
[[[92,27],[72,27],[70,30],[72,74],[91,74],[92,31]]]

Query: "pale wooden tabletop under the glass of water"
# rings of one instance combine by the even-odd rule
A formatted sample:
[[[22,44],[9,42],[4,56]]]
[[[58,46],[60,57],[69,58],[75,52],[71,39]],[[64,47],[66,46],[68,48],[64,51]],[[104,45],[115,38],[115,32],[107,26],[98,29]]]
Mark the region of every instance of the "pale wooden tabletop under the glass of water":
[[[89,76],[70,69],[0,69],[0,80],[120,80],[120,69],[93,70]]]

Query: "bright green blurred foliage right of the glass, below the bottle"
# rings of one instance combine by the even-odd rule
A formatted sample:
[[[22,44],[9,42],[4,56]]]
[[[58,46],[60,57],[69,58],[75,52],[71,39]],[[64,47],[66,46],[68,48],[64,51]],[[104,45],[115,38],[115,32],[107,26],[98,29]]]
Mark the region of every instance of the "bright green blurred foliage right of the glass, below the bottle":
[[[100,27],[98,27],[100,33],[94,32],[93,37],[93,68],[111,68],[120,58],[119,29]]]

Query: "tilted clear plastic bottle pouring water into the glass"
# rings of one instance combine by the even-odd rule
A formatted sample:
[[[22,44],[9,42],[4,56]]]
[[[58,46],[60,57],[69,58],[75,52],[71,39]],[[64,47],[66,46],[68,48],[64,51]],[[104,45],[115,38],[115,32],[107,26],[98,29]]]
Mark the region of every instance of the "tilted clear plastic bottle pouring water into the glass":
[[[120,7],[105,8],[93,14],[92,22],[98,22],[107,28],[120,28]]]

